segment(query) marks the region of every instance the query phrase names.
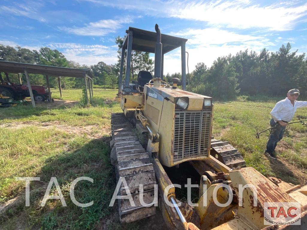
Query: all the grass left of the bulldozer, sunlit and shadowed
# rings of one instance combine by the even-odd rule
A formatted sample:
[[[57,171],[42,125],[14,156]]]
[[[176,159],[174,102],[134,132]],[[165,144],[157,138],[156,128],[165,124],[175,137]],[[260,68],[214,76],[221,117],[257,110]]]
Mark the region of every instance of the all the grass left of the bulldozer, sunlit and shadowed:
[[[80,93],[81,90],[63,90],[63,99],[77,100]],[[110,130],[111,113],[120,112],[113,101],[116,93],[117,90],[94,89],[94,106],[90,108],[22,105],[1,110],[1,124],[16,128],[0,127],[0,204],[24,194],[25,182],[15,177],[40,177],[40,182],[31,182],[30,207],[25,207],[23,201],[1,215],[1,229],[91,229],[111,213],[108,205],[115,177],[109,159],[109,134],[102,130]],[[43,128],[46,122],[49,128]],[[90,135],[102,132],[103,136],[93,139],[86,133],[69,132],[69,127],[86,125],[95,127]],[[70,184],[80,176],[94,180],[94,185],[81,181],[75,188],[79,202],[94,201],[88,208],[74,205],[69,197]],[[68,207],[62,207],[57,200],[40,207],[51,177],[57,178]],[[57,195],[54,188],[52,193]]]

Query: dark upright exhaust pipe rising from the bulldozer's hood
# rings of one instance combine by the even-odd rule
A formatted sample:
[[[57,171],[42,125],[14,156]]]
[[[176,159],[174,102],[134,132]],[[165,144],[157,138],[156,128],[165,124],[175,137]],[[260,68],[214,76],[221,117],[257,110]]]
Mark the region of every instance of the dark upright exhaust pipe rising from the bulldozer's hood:
[[[162,43],[161,32],[158,24],[155,25],[157,32],[157,42],[154,48],[154,87],[160,87],[161,84],[161,65],[162,65]]]

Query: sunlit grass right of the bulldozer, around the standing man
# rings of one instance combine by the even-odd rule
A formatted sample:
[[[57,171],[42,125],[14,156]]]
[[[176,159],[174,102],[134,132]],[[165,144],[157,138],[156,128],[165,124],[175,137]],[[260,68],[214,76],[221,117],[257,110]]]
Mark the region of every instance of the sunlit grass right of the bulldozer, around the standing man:
[[[256,129],[262,131],[270,127],[270,111],[274,105],[275,102],[217,102],[213,117],[213,136],[222,133],[220,139],[227,140],[238,148],[247,166],[256,168],[266,176],[286,179],[287,172],[285,175],[277,173],[271,166],[271,162],[263,158],[269,132],[260,135],[259,139],[255,138]],[[297,116],[306,116],[306,114],[307,108],[298,109],[296,113]],[[282,151],[280,156],[285,158],[289,164],[299,167],[298,170],[305,171],[307,157],[303,151],[307,147],[307,142],[303,133],[306,133],[306,128],[301,124],[293,124],[289,125],[288,130],[292,136],[301,135],[297,138],[284,138],[282,142],[287,143],[290,150]],[[297,183],[297,179],[287,179],[287,182]]]

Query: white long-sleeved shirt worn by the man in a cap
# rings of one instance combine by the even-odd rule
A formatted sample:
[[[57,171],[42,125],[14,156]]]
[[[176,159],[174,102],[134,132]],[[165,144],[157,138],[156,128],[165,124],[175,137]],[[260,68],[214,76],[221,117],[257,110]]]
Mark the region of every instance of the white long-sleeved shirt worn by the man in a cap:
[[[306,107],[307,102],[294,101],[294,106],[291,104],[291,101],[286,98],[276,103],[272,111],[270,112],[273,120],[277,121],[291,121],[294,117],[294,113],[297,108]]]

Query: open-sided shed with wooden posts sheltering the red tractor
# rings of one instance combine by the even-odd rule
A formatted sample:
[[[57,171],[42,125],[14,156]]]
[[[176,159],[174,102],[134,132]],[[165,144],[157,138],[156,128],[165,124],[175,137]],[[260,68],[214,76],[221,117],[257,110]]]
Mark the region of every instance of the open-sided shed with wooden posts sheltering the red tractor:
[[[62,97],[62,89],[61,89],[61,82],[60,82],[61,77],[83,78],[84,86],[86,89],[87,104],[89,103],[88,96],[87,96],[88,94],[87,89],[89,90],[90,101],[92,100],[92,96],[93,96],[92,80],[93,80],[94,75],[90,71],[90,69],[74,69],[74,68],[66,68],[66,67],[55,67],[55,66],[35,65],[35,64],[19,63],[19,62],[0,61],[0,80],[1,82],[3,82],[1,72],[4,72],[6,75],[7,73],[18,74],[20,84],[21,84],[20,73],[25,74],[33,107],[35,107],[35,101],[34,101],[34,97],[32,93],[29,74],[41,74],[41,75],[46,76],[47,87],[49,90],[49,102],[51,103],[52,103],[52,98],[51,98],[51,93],[50,93],[48,76],[58,77],[58,84],[59,84],[59,90],[60,90],[61,97]]]

